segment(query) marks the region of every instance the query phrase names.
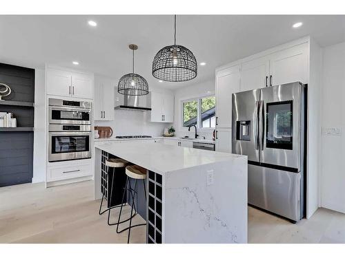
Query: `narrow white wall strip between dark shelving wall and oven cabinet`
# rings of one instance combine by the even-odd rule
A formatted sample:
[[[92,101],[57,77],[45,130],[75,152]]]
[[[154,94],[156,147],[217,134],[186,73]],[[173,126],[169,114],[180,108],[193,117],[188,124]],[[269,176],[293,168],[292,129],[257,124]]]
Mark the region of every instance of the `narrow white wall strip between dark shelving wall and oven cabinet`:
[[[34,78],[34,171],[32,182],[46,181],[46,75],[35,69]]]

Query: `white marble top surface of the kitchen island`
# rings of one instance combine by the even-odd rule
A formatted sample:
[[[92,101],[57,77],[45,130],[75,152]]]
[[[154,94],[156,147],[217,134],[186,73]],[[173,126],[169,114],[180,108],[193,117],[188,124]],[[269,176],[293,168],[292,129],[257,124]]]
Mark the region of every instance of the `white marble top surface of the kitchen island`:
[[[134,140],[95,142],[95,148],[159,174],[193,166],[246,158],[243,155]]]

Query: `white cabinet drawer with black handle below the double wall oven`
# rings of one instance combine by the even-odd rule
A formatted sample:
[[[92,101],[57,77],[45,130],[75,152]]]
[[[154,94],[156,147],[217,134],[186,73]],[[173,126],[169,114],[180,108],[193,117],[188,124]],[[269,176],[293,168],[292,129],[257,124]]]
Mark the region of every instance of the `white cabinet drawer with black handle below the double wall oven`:
[[[50,167],[48,168],[47,181],[51,182],[69,178],[79,178],[91,174],[90,164],[79,166]]]

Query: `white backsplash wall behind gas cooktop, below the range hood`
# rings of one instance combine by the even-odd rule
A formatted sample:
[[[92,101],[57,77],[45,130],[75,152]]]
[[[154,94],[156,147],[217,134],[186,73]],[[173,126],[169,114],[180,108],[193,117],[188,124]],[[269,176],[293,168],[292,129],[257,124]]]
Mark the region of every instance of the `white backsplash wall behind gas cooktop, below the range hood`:
[[[150,92],[164,92],[173,94],[168,89],[150,86]],[[115,89],[115,98],[119,94]],[[114,104],[115,106],[115,104]],[[95,120],[95,126],[111,127],[113,136],[148,135],[161,136],[164,128],[170,127],[170,123],[150,122],[150,111],[115,110],[115,118],[112,121]]]

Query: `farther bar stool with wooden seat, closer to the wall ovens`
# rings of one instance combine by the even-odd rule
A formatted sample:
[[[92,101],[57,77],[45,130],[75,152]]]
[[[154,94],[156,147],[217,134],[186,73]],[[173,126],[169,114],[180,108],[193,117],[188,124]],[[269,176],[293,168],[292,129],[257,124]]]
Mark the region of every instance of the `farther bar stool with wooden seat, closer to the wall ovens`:
[[[105,211],[101,211],[101,207],[102,207],[103,199],[104,199],[104,195],[105,195],[105,191],[103,191],[101,205],[99,206],[99,215],[108,211],[108,225],[109,226],[117,224],[117,223],[113,223],[113,224],[110,223],[110,211],[111,211],[111,209],[121,206],[121,204],[112,206],[112,198],[113,198],[112,189],[113,189],[114,182],[115,182],[115,176],[117,173],[124,172],[124,169],[125,169],[127,164],[128,164],[128,162],[126,160],[121,159],[121,158],[109,158],[108,160],[106,160],[106,166],[108,168],[108,176],[109,176],[109,173],[112,173],[112,180],[111,180],[110,187],[109,187],[109,185],[107,185],[108,189],[110,188],[110,197],[108,195],[108,197],[109,197],[109,208],[106,208]],[[111,171],[110,171],[110,168],[111,168]]]

